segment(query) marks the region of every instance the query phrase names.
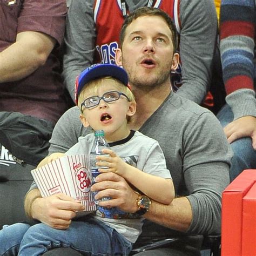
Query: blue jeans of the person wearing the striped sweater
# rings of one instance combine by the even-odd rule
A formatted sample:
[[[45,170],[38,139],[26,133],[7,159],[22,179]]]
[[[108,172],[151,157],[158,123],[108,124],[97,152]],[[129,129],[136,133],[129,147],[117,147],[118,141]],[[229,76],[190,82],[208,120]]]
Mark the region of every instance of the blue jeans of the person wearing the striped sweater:
[[[223,127],[234,119],[233,112],[227,104],[219,111],[217,118]],[[252,147],[250,137],[240,138],[231,143],[234,156],[231,161],[230,181],[245,169],[256,169],[256,151]]]

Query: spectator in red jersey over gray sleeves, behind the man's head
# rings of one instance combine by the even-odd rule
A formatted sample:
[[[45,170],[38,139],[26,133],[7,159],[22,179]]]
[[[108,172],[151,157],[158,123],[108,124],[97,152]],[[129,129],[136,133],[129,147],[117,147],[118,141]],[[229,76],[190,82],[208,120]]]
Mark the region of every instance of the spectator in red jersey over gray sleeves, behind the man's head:
[[[212,59],[217,39],[217,16],[212,0],[76,0],[66,21],[63,77],[74,98],[75,79],[92,63],[115,63],[115,51],[124,18],[142,6],[164,10],[179,33],[181,65],[172,75],[173,90],[203,103],[210,89]],[[182,74],[182,81],[181,81]]]

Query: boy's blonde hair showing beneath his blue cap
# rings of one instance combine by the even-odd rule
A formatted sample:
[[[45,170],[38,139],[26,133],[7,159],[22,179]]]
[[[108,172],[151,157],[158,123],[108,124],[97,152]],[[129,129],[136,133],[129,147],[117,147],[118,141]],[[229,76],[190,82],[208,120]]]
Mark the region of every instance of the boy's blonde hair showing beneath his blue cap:
[[[130,102],[135,102],[135,97],[132,91],[121,83],[118,79],[113,77],[100,77],[95,80],[91,80],[89,83],[85,84],[83,89],[80,91],[78,96],[78,107],[80,109],[80,105],[84,102],[87,98],[89,93],[97,95],[99,86],[104,86],[104,80],[112,80],[113,86],[120,92],[123,92],[128,98]],[[80,109],[82,111],[82,109]]]

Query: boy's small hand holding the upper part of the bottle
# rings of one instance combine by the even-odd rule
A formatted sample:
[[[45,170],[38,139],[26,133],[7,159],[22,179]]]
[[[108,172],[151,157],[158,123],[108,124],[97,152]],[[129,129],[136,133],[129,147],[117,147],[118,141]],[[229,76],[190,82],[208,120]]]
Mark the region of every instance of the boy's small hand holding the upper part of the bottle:
[[[120,157],[117,156],[114,151],[110,149],[103,149],[102,152],[104,154],[109,154],[109,156],[97,156],[97,163],[96,165],[100,166],[106,166],[109,167],[108,169],[99,169],[100,172],[114,172],[118,175],[124,177],[125,173],[127,171],[127,167],[129,165],[125,163]]]

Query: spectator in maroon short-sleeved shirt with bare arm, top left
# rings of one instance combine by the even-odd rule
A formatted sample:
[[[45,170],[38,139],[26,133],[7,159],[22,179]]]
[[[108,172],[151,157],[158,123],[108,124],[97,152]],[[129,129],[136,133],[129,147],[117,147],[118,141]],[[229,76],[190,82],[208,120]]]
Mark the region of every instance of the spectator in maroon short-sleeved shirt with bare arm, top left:
[[[1,1],[0,111],[42,119],[49,131],[68,109],[60,77],[66,1]]]

